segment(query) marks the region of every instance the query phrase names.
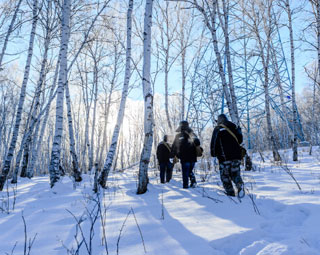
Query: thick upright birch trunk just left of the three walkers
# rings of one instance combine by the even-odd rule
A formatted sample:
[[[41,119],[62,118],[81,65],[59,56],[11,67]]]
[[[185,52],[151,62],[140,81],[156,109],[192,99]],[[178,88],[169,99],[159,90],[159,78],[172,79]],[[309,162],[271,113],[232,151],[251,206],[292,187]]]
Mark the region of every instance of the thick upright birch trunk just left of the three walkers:
[[[137,194],[143,194],[148,186],[148,165],[153,142],[153,93],[150,82],[151,69],[151,26],[153,0],[146,0],[143,33],[143,71],[142,87],[144,96],[144,143],[139,165]]]

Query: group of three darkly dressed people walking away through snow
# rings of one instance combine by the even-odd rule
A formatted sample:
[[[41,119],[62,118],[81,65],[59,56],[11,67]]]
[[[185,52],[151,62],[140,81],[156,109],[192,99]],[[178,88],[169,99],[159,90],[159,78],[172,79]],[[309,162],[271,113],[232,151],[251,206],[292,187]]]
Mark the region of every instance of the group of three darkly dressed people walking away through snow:
[[[169,182],[175,163],[180,160],[182,168],[182,186],[184,189],[197,184],[193,168],[197,157],[202,155],[199,138],[189,127],[187,121],[181,121],[172,145],[168,136],[157,147],[157,159],[160,166],[160,182]],[[220,114],[210,143],[212,157],[219,161],[220,178],[228,196],[235,196],[232,182],[237,188],[237,196],[244,196],[244,184],[240,175],[241,147],[243,137],[240,127],[229,121],[225,114]],[[190,185],[189,185],[190,180]]]

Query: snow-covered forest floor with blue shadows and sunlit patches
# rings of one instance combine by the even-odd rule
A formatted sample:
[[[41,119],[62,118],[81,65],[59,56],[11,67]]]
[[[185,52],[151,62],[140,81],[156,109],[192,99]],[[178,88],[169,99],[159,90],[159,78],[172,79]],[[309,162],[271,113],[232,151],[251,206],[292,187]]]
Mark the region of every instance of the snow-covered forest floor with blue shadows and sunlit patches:
[[[242,172],[241,201],[225,196],[218,173],[200,164],[197,188],[182,189],[176,171],[160,184],[152,170],[144,195],[135,194],[136,168],[114,173],[99,197],[89,175],[77,186],[65,177],[53,189],[48,177],[20,180],[16,196],[11,185],[9,199],[0,193],[0,255],[28,254],[33,240],[33,255],[320,254],[320,151],[300,148],[296,163],[291,152],[282,155],[287,164],[276,166],[269,154],[265,163],[255,158],[256,171]]]

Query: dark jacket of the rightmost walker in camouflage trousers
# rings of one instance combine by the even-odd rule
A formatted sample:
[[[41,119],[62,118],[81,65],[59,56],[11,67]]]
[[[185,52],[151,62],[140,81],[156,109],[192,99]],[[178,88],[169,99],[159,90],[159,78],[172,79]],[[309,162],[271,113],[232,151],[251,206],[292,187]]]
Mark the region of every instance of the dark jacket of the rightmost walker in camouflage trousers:
[[[223,124],[236,135],[238,142],[225,128],[219,125],[216,126],[211,138],[211,156],[217,157],[219,162],[234,159],[240,160],[241,152],[239,144],[241,144],[243,140],[241,129],[230,121],[226,121]]]

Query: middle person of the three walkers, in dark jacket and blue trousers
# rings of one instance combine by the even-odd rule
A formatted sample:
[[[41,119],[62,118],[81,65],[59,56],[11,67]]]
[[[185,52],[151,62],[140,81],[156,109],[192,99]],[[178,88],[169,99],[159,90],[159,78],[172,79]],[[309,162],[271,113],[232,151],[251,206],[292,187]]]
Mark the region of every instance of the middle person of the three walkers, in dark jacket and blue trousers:
[[[189,178],[190,187],[194,187],[197,183],[193,168],[197,162],[196,146],[200,146],[200,140],[185,120],[180,122],[176,131],[178,134],[175,136],[172,151],[180,159],[183,188],[187,189],[189,187]]]

